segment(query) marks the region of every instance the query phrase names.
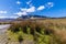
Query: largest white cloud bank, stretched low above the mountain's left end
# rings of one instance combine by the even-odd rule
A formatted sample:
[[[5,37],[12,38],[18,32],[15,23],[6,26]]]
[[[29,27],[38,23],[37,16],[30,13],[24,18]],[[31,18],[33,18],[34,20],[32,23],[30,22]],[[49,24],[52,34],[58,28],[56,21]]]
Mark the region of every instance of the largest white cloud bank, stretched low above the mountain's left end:
[[[31,12],[35,12],[35,7],[31,7],[29,9],[26,9],[26,8],[20,8],[20,9],[21,9],[21,11],[16,12],[14,14],[18,14],[19,16],[21,16],[21,15],[26,15],[28,13],[31,13]]]

